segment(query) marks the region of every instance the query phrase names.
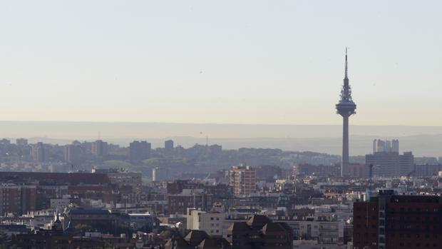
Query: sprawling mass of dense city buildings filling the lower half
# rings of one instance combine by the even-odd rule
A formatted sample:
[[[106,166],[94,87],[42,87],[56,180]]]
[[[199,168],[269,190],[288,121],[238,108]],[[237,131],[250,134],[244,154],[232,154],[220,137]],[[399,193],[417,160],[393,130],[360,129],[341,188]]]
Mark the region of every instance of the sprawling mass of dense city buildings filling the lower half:
[[[418,245],[437,248],[442,238],[433,224],[442,165],[430,157],[415,164],[412,153],[399,154],[397,140],[367,143],[374,153],[350,163],[344,177],[339,156],[321,153],[195,145],[150,148],[145,158],[147,141],[102,142],[0,143],[0,166],[7,169],[0,171],[0,232],[6,231],[0,245],[57,235],[83,248],[416,248],[408,236],[430,236]],[[97,156],[100,144],[106,150]],[[43,148],[43,162],[33,148]],[[14,168],[17,158],[23,168]],[[385,218],[379,201],[391,203]],[[405,213],[397,216],[399,203]],[[413,206],[408,215],[408,205],[421,209]],[[428,222],[427,214],[433,215]],[[409,233],[408,217],[414,220]],[[391,227],[397,220],[399,227]],[[404,240],[394,239],[401,234]]]

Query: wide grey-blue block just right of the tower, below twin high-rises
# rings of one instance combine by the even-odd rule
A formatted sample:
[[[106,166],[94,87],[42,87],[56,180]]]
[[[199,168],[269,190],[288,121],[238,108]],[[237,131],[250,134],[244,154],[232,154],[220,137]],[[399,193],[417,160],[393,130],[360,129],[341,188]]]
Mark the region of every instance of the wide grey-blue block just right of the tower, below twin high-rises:
[[[411,152],[400,155],[396,152],[380,151],[365,156],[366,174],[373,166],[373,176],[408,176],[414,170],[414,156]]]

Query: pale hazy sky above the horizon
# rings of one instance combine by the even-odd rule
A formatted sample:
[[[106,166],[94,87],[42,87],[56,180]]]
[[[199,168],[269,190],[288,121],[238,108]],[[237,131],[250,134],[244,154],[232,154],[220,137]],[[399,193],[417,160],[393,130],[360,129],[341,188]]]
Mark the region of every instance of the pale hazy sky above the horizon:
[[[1,1],[11,121],[442,126],[441,1]]]

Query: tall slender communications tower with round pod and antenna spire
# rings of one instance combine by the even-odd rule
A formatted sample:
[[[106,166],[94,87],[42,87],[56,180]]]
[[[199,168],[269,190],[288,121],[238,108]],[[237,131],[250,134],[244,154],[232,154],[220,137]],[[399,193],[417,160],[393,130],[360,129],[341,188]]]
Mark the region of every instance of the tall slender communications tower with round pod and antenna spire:
[[[341,99],[339,99],[339,103],[336,103],[336,113],[341,115],[343,119],[341,176],[346,176],[349,173],[349,117],[356,113],[356,103],[351,98],[348,68],[347,49],[345,49],[344,86],[341,90]]]

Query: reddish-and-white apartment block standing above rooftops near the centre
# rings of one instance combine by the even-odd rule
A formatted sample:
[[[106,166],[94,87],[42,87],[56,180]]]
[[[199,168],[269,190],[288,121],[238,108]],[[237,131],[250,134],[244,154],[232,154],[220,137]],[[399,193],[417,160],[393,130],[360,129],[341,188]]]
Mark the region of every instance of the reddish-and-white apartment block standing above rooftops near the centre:
[[[235,195],[250,195],[256,190],[257,175],[250,166],[232,166],[229,171],[229,185]]]

